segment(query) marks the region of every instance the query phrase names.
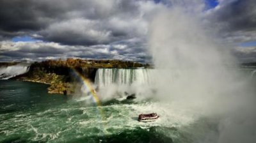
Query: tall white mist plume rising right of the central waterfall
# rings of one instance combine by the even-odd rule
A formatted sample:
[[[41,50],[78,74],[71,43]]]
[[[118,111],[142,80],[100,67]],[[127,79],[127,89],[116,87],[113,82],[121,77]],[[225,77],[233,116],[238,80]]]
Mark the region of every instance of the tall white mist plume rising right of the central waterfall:
[[[218,119],[218,130],[195,142],[254,142],[255,97],[239,72],[228,67],[234,64],[232,56],[214,43],[195,15],[173,6],[152,20],[149,46],[157,70],[156,96],[170,110]]]

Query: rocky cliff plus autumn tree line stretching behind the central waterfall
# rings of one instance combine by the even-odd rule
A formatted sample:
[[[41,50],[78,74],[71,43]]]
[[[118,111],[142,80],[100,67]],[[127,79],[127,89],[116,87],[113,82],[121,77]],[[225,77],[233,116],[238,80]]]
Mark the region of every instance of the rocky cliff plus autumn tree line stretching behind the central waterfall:
[[[27,73],[12,79],[49,84],[51,86],[48,87],[48,93],[72,94],[79,82],[79,79],[74,76],[74,73],[79,73],[79,75],[94,82],[98,68],[138,68],[142,66],[143,64],[140,63],[117,60],[49,60],[31,64]]]

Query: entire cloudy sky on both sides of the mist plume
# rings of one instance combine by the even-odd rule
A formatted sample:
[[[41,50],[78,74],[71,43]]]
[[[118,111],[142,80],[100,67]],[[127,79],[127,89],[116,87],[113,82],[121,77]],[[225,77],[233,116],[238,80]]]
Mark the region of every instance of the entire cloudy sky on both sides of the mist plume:
[[[1,0],[0,61],[80,57],[147,62],[154,15],[179,0]],[[256,61],[255,0],[182,0],[198,5],[243,62]],[[193,6],[195,7],[195,6]]]

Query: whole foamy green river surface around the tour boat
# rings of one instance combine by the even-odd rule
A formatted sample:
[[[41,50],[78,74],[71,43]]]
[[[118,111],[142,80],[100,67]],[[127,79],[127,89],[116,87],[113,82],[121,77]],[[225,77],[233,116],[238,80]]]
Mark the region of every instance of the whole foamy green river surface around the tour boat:
[[[0,80],[0,142],[191,142],[207,132],[192,135],[194,127],[212,124],[202,119],[196,122],[195,117],[161,108],[157,102],[122,99],[96,107],[83,98],[47,94],[46,88]],[[160,119],[137,121],[138,114],[150,111]]]

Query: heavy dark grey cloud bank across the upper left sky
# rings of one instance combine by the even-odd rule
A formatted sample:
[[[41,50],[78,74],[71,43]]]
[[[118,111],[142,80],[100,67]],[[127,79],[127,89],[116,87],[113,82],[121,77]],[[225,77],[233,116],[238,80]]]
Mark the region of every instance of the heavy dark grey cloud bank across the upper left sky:
[[[12,38],[33,31],[41,40],[68,45],[95,45],[140,36],[147,28],[139,2],[3,0],[0,34]]]

